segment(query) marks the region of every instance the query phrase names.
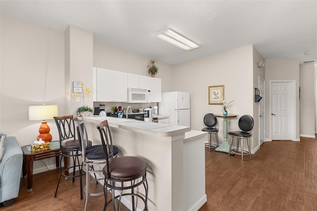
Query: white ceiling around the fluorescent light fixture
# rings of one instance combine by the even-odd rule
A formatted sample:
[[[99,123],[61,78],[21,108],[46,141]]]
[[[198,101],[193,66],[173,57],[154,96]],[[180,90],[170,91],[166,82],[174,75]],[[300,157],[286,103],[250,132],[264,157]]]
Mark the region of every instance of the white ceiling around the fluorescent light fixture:
[[[169,64],[247,45],[265,59],[317,60],[316,0],[1,0],[0,11],[61,31],[74,25]],[[200,48],[187,52],[155,38],[166,27]]]

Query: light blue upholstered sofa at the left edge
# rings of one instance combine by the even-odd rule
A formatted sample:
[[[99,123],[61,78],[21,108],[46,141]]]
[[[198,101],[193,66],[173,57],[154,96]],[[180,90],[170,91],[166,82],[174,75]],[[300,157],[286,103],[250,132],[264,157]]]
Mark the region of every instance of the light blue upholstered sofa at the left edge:
[[[23,153],[16,138],[6,137],[0,161],[0,203],[4,207],[12,205],[19,194],[22,162]]]

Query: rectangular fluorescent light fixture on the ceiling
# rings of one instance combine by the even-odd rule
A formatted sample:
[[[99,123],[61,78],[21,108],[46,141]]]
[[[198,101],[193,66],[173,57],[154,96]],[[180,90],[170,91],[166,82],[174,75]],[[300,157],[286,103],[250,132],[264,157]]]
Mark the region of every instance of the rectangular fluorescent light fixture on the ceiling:
[[[156,36],[186,51],[199,48],[198,44],[170,28],[159,31]]]

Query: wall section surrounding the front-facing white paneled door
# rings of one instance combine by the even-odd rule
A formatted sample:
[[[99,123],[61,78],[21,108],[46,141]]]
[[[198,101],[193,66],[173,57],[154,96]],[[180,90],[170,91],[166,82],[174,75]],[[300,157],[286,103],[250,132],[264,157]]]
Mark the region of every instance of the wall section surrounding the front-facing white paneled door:
[[[271,140],[271,122],[269,107],[270,107],[270,96],[269,96],[269,81],[270,80],[295,80],[296,83],[296,139],[299,140],[299,61],[296,59],[290,60],[265,60],[265,127],[266,127],[266,140]],[[295,140],[294,140],[295,141]]]

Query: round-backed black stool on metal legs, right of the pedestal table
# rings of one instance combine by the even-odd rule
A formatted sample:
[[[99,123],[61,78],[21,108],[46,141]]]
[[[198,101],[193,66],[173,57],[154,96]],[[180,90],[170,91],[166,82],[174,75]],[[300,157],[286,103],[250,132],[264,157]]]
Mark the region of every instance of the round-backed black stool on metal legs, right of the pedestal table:
[[[230,146],[229,146],[229,156],[230,154],[236,154],[241,155],[241,159],[243,160],[243,156],[249,155],[251,159],[251,148],[250,148],[250,140],[249,138],[252,136],[251,133],[249,133],[254,125],[254,120],[252,116],[250,115],[243,115],[240,117],[238,122],[239,128],[242,131],[234,131],[234,132],[228,132],[228,135],[231,136],[230,139]],[[233,138],[237,138],[237,148],[235,150],[231,150]],[[248,151],[245,151],[243,148],[243,140],[247,140],[248,145]],[[239,142],[241,141],[241,150],[239,150]]]

